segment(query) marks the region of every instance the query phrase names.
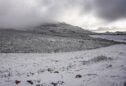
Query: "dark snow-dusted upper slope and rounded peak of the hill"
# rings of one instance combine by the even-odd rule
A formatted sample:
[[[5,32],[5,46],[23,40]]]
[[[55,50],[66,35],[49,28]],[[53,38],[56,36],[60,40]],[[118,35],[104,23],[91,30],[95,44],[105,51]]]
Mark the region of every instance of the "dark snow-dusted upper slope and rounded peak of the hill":
[[[78,26],[72,26],[66,23],[43,24],[36,27],[32,27],[31,31],[51,36],[81,38],[81,39],[89,38],[87,34],[92,33],[91,31],[84,30]]]

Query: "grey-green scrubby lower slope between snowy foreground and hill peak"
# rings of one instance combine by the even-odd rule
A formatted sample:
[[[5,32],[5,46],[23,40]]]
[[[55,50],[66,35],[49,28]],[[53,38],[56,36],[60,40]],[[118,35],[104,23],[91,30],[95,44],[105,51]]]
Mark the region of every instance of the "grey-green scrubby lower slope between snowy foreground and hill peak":
[[[63,35],[63,34],[62,34]],[[0,31],[0,53],[51,53],[88,50],[116,44],[113,41],[50,36],[25,31]]]

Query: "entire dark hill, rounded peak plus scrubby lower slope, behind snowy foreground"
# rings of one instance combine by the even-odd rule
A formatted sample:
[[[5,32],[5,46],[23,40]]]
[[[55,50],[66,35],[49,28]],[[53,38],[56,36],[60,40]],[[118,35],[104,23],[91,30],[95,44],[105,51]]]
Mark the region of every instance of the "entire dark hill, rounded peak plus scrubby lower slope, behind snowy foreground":
[[[0,29],[1,53],[51,53],[94,49],[117,42],[91,38],[90,31],[68,24],[46,24],[32,30]]]

